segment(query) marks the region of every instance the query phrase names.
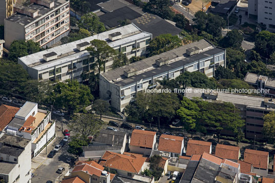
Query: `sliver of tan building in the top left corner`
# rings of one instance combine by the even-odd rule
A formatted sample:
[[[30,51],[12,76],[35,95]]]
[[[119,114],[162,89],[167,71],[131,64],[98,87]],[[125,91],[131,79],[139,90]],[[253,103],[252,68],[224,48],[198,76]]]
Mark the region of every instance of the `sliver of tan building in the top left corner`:
[[[0,1],[0,25],[4,25],[4,19],[13,14],[13,5],[15,0]]]

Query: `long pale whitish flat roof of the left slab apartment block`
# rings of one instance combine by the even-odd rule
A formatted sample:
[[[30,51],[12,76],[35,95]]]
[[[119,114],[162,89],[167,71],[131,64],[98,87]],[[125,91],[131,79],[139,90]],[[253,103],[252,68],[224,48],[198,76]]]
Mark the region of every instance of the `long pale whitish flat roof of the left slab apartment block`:
[[[112,34],[114,32],[120,32],[122,34],[122,38],[119,40],[114,40],[113,42],[108,38],[109,34]],[[27,55],[20,59],[26,66],[31,67],[36,70],[44,70],[47,68],[51,68],[56,65],[64,64],[67,62],[70,62],[71,60],[83,57],[85,55],[89,55],[88,51],[78,51],[76,49],[77,44],[81,44],[83,42],[90,43],[93,39],[100,39],[105,40],[109,46],[115,47],[119,45],[123,45],[126,43],[129,43],[131,41],[134,41],[139,38],[143,38],[146,36],[151,36],[150,33],[143,32],[141,29],[136,27],[134,24],[129,24],[123,27],[119,27],[116,29],[112,29],[106,32],[102,32],[100,34],[96,34],[90,37],[86,37],[84,39],[76,40],[75,42],[71,42],[68,44],[64,44],[61,46],[57,46],[54,48],[50,48],[41,52],[33,53],[31,55]],[[57,59],[50,60],[49,62],[45,62],[43,59],[43,55],[55,52],[57,53]],[[63,55],[63,56],[59,56]]]

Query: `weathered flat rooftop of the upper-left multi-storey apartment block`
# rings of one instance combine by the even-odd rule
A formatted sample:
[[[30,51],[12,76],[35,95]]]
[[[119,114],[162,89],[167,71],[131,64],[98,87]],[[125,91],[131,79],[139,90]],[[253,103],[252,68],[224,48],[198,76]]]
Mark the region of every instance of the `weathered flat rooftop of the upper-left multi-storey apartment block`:
[[[26,26],[32,22],[37,21],[41,16],[44,16],[45,14],[49,13],[53,9],[57,8],[58,6],[67,3],[67,1],[65,0],[51,0],[51,1],[54,2],[53,8],[47,8],[45,6],[37,5],[37,4],[30,4],[29,6],[27,6],[26,8],[29,11],[34,11],[34,10],[38,11],[38,15],[35,17],[30,17],[28,15],[21,14],[21,13],[14,13],[10,17],[8,17],[7,20]]]

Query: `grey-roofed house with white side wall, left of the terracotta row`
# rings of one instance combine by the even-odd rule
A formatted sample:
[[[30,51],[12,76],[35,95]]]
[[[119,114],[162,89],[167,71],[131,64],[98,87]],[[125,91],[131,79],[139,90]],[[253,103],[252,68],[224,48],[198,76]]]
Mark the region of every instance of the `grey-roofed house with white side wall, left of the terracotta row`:
[[[100,159],[105,151],[123,153],[128,150],[127,133],[122,131],[100,130],[89,146],[82,147],[80,160]]]

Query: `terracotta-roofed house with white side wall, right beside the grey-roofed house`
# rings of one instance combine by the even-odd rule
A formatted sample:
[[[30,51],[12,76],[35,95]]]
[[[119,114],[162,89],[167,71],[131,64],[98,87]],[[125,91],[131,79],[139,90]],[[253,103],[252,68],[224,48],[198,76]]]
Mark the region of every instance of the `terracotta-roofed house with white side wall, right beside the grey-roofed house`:
[[[150,155],[155,148],[155,143],[156,132],[134,129],[130,140],[130,152]]]

